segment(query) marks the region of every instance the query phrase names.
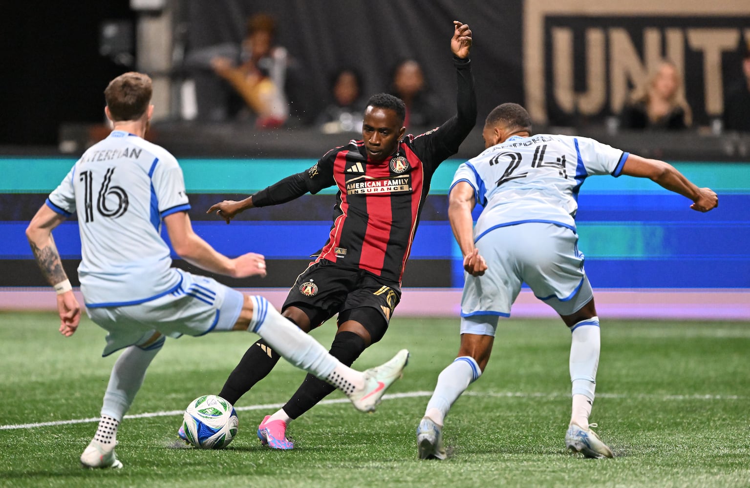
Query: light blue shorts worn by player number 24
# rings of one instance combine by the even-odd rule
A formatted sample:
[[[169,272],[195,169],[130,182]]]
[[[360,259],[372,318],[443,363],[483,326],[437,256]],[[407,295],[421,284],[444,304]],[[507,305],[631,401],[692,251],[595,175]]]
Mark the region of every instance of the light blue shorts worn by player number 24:
[[[560,315],[571,315],[593,298],[583,271],[578,235],[552,223],[528,222],[493,229],[476,242],[487,261],[481,277],[464,273],[461,334],[495,335],[508,317],[522,283]]]

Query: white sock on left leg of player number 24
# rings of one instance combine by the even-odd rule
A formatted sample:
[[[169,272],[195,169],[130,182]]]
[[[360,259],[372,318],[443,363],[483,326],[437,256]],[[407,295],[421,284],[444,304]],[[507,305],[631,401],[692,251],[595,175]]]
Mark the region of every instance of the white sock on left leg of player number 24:
[[[431,418],[435,424],[442,427],[453,403],[479,376],[481,370],[474,358],[456,358],[437,377],[437,385],[427,404],[425,417]]]

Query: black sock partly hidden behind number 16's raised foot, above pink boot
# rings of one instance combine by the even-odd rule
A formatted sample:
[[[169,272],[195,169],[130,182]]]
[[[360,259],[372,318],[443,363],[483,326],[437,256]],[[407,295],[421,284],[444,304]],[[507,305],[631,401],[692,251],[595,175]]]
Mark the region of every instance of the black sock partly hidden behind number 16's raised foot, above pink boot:
[[[365,340],[362,337],[353,332],[344,331],[336,334],[330,352],[342,364],[351,366],[364,350]],[[290,418],[296,419],[316,406],[320,400],[323,400],[326,395],[335,389],[335,386],[308,374],[305,381],[302,382],[302,385],[284,406],[284,412],[287,412]]]

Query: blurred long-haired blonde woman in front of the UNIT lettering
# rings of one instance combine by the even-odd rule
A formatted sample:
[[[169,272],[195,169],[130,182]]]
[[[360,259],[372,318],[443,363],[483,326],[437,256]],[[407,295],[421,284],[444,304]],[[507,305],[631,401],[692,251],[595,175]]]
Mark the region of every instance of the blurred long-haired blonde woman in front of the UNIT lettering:
[[[622,129],[680,130],[691,124],[682,76],[667,60],[659,62],[649,79],[635,88],[620,115]]]

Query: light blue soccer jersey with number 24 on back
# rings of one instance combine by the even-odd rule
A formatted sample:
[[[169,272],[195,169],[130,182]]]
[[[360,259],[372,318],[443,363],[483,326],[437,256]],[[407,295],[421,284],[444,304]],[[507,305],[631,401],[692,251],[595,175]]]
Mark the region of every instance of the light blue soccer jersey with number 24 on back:
[[[619,176],[628,153],[587,137],[511,136],[461,164],[451,188],[466,181],[484,206],[477,241],[501,226],[554,223],[575,231],[577,196],[591,175]]]

